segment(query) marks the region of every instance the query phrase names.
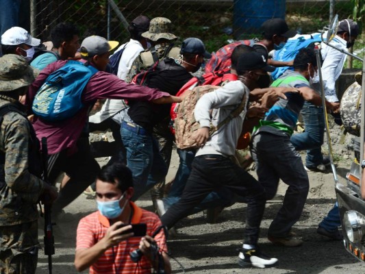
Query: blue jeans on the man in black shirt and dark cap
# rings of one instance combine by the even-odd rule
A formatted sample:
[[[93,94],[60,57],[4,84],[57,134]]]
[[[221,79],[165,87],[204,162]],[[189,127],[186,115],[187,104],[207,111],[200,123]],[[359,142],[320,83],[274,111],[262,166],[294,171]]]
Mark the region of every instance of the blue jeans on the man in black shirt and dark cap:
[[[133,175],[132,201],[136,201],[144,192],[166,177],[167,167],[159,153],[158,142],[151,133],[138,125],[131,127],[123,122],[121,135],[127,152],[127,166]]]

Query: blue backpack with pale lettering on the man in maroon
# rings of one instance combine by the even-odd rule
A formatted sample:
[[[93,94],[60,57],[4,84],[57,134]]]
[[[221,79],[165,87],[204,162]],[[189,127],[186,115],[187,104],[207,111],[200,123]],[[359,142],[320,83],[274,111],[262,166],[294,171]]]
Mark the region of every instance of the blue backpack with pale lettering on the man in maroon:
[[[45,121],[63,121],[75,115],[84,104],[81,94],[98,70],[79,61],[69,60],[51,73],[34,97],[32,110]]]

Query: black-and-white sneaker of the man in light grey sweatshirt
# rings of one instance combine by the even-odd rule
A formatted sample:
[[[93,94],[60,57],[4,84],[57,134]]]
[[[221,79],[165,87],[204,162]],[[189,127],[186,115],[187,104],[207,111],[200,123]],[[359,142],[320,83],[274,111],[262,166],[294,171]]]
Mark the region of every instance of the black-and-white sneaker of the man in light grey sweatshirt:
[[[264,269],[266,266],[272,266],[277,262],[277,258],[268,258],[268,256],[261,253],[259,249],[237,249],[240,251],[238,254],[238,264],[244,267],[257,267]]]

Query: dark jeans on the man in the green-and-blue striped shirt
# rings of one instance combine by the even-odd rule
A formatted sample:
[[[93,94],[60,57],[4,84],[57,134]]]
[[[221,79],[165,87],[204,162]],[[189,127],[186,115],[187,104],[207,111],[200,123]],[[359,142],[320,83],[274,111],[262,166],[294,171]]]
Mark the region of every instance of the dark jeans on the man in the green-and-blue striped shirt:
[[[268,229],[269,236],[287,237],[301,217],[307,199],[310,188],[307,171],[289,136],[260,132],[251,142],[258,181],[266,190],[266,199],[275,197],[279,179],[288,185],[283,205]]]

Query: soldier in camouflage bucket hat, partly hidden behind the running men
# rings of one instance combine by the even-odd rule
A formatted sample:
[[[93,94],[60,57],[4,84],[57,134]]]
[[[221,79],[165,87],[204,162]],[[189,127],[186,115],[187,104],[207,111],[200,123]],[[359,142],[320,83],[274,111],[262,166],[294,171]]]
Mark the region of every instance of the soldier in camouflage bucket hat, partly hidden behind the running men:
[[[153,47],[150,47],[146,51],[142,51],[140,55],[134,60],[125,82],[130,83],[135,75],[140,71],[147,70],[151,67],[155,61],[163,60],[164,58],[179,58],[180,48],[174,47],[173,41],[176,40],[176,36],[171,34],[171,21],[168,18],[156,17],[153,18],[149,24],[149,31],[142,34],[144,38],[151,41]],[[169,121],[166,123],[158,124],[153,129],[153,135],[158,140],[160,146],[160,153],[166,163],[166,166],[170,165],[171,150],[173,147],[173,136],[168,129]],[[161,199],[164,192],[165,181],[158,182],[151,190],[152,200]]]

